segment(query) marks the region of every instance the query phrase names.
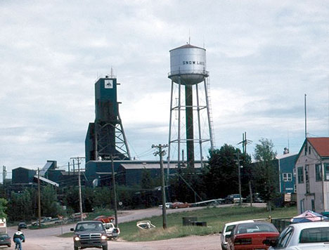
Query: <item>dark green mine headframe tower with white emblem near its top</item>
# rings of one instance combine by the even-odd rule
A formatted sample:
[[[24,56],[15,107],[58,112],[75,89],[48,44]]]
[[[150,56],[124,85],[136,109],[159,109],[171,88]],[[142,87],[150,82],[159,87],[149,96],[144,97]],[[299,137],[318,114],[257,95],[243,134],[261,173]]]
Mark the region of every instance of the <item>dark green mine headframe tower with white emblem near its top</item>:
[[[86,162],[131,159],[117,102],[117,78],[101,77],[95,83],[95,122],[89,123],[85,140]]]

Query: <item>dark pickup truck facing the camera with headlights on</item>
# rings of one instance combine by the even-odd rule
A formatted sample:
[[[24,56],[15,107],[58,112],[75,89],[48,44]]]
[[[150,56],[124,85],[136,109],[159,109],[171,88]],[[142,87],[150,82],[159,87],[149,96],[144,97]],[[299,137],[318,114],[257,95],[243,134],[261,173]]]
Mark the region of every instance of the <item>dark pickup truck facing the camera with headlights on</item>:
[[[101,221],[79,221],[71,231],[75,232],[75,250],[91,247],[108,250],[108,236]]]

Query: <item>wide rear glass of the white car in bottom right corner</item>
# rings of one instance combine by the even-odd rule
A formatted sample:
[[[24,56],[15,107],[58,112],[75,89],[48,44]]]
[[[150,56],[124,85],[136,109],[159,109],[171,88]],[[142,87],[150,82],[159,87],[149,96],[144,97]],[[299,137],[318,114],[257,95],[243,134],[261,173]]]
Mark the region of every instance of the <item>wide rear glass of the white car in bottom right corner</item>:
[[[306,228],[300,232],[299,243],[329,242],[329,227]]]

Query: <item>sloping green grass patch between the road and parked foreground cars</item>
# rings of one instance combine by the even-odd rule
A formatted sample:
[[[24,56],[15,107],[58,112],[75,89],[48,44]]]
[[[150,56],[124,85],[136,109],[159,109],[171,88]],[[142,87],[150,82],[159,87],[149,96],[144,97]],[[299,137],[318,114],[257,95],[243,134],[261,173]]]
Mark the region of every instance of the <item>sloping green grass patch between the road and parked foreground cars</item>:
[[[271,218],[293,217],[296,215],[297,208],[295,206],[278,208],[271,211]],[[198,217],[198,221],[206,221],[207,227],[183,226],[182,218],[188,216]],[[156,226],[156,228],[151,230],[140,230],[136,227],[137,221],[120,223],[120,238],[131,242],[146,242],[186,237],[189,235],[212,235],[219,233],[225,223],[259,218],[269,218],[269,211],[266,211],[265,208],[250,206],[214,207],[194,211],[183,211],[167,214],[167,230],[162,229],[162,216],[153,216],[143,219],[143,221],[151,221],[151,223]]]

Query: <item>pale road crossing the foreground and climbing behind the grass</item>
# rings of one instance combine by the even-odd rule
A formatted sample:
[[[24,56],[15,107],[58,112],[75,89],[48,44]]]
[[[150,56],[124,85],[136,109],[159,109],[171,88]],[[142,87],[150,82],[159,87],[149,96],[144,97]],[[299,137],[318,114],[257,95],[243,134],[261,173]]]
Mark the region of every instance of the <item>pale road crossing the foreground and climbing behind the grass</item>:
[[[223,205],[227,206],[227,205]],[[176,213],[192,209],[169,209],[168,213]],[[120,223],[134,220],[141,220],[150,216],[160,216],[161,209],[140,209],[132,211],[122,211],[118,216]],[[58,237],[65,232],[70,232],[73,225],[63,225],[63,227],[46,228],[43,230],[23,230],[26,236],[26,242],[22,244],[23,250],[72,250],[72,238]],[[8,228],[9,235],[13,235],[16,227]],[[189,249],[189,250],[220,250],[219,235],[191,236],[176,239],[167,239],[155,242],[124,242],[122,240],[108,242],[108,249],[113,250],[172,250],[172,249]],[[0,248],[1,249],[1,248]],[[11,247],[13,249],[13,246]],[[92,249],[96,250],[96,249]]]

